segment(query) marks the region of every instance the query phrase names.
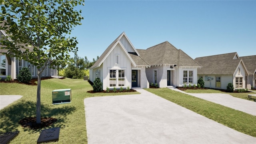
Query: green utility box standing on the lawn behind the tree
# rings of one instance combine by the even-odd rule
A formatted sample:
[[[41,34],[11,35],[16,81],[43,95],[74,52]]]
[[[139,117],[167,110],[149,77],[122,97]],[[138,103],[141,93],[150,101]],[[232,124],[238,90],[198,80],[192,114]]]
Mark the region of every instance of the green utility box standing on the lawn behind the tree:
[[[60,89],[52,91],[52,104],[71,102],[71,89]]]

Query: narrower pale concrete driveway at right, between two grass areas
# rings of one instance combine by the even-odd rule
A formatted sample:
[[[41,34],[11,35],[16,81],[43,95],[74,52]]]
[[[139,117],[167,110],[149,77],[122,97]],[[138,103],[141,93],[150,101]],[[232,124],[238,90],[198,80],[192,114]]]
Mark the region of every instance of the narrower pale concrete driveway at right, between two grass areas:
[[[253,102],[250,100],[236,98],[229,94],[194,94],[194,93],[187,93],[182,90],[178,90],[177,88],[170,88],[170,89],[176,90],[178,92],[182,92],[185,94],[189,94],[191,96],[195,96],[198,98],[202,98],[204,100],[208,100],[210,102],[214,102],[216,104],[220,104],[222,106],[233,108],[235,110],[240,110],[242,112],[246,112],[248,114],[252,114],[256,116],[256,102]]]

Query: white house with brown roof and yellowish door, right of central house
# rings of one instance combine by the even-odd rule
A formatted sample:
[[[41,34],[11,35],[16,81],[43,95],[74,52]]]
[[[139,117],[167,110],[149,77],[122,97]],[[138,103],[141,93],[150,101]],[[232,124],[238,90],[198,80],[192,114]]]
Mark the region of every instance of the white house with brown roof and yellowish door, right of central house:
[[[198,78],[203,78],[205,87],[226,89],[228,83],[232,83],[234,89],[246,88],[248,70],[236,52],[204,56],[195,60],[202,66],[197,74]]]

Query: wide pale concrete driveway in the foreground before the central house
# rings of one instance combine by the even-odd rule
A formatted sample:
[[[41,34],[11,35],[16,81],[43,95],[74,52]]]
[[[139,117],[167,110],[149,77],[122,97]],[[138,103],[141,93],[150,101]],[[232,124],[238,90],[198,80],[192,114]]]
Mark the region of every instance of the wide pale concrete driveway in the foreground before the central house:
[[[84,99],[88,144],[252,144],[248,136],[146,90]]]

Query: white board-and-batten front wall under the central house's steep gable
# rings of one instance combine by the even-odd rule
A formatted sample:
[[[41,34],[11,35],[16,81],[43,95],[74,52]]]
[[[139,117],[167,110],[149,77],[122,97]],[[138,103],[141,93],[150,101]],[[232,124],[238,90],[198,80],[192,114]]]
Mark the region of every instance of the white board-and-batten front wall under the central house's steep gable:
[[[118,64],[116,64],[117,54],[119,57]],[[108,57],[103,62],[103,90],[106,90],[107,87],[112,88],[109,86],[109,70],[125,70],[125,85],[123,87],[131,87],[131,83],[129,82],[132,72],[131,62],[124,53],[120,44],[115,46],[115,48],[112,50],[112,52],[110,52]],[[116,74],[118,74],[118,72]],[[116,88],[119,88],[119,86],[116,86]]]

